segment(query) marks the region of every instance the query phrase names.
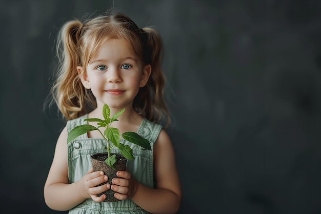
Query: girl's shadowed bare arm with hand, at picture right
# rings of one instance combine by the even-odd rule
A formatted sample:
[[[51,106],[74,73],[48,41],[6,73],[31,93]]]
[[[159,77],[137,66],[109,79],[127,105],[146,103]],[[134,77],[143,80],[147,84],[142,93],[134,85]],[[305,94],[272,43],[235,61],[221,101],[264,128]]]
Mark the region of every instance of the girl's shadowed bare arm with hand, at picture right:
[[[154,144],[154,174],[156,189],[138,183],[127,171],[118,171],[111,188],[119,200],[131,198],[138,206],[151,213],[175,213],[180,206],[181,192],[175,155],[168,134],[162,130]],[[129,188],[127,188],[129,187]]]

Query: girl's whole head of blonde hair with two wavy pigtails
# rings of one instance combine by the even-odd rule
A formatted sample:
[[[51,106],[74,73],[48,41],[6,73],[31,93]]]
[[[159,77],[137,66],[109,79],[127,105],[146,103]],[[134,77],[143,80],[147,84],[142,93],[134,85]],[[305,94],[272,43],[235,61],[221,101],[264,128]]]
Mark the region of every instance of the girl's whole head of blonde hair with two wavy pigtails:
[[[164,100],[165,75],[161,69],[162,40],[155,29],[139,29],[131,18],[122,13],[100,15],[85,22],[69,21],[59,31],[59,65],[51,92],[63,116],[70,120],[96,108],[96,99],[82,85],[80,77],[84,73],[78,74],[77,66],[86,68],[98,47],[108,38],[130,42],[142,65],[151,65],[149,80],[139,89],[133,108],[152,122],[159,123],[165,119],[168,126],[170,115]]]

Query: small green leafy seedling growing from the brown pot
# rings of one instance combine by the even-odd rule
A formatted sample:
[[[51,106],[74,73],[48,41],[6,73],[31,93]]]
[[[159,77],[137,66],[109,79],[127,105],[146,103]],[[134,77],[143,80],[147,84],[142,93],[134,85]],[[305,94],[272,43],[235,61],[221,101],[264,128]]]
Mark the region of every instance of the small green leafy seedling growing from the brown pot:
[[[113,165],[116,162],[116,155],[115,154],[111,155],[111,153],[110,153],[111,148],[113,146],[117,147],[119,149],[119,151],[121,151],[121,154],[125,158],[127,158],[129,160],[135,159],[133,157],[133,151],[130,148],[130,146],[124,145],[120,142],[121,141],[121,134],[119,133],[119,130],[117,128],[110,127],[114,121],[118,121],[117,120],[118,116],[121,115],[124,111],[125,111],[125,108],[116,112],[112,116],[112,118],[110,118],[110,108],[107,104],[105,104],[103,106],[104,120],[101,120],[98,118],[85,119],[84,121],[97,122],[97,127],[89,125],[89,124],[76,126],[75,128],[73,128],[69,132],[67,142],[69,143],[69,142],[73,141],[79,135],[85,134],[89,131],[97,130],[97,131],[99,131],[99,133],[102,134],[103,138],[106,140],[107,146],[105,147],[105,149],[107,150],[108,158],[105,160],[105,163],[108,166],[115,169],[115,167]],[[101,130],[99,130],[99,128],[101,128],[101,127],[105,127],[104,134]],[[141,137],[141,135],[139,135],[135,132],[128,131],[128,132],[122,133],[122,137],[123,137],[123,139],[125,139],[133,144],[136,144],[136,145],[141,146],[141,147],[148,149],[148,150],[152,150],[150,147],[149,141],[147,139]],[[110,143],[112,143],[112,144],[110,144]]]

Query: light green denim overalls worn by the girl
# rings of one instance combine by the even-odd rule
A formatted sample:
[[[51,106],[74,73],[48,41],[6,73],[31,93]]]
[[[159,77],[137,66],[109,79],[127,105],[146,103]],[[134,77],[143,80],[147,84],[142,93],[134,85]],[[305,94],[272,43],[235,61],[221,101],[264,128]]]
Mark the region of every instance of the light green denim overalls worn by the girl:
[[[88,114],[77,119],[67,121],[67,131],[70,132],[75,126],[87,124],[84,119],[88,118]],[[155,188],[154,171],[153,171],[153,145],[156,141],[162,126],[154,124],[147,119],[142,121],[137,133],[149,140],[152,151],[142,149],[141,147],[129,143],[124,139],[121,140],[125,145],[129,145],[133,149],[135,160],[127,161],[127,169],[131,176],[139,183],[148,187]],[[68,177],[69,183],[80,180],[91,168],[90,155],[98,152],[106,152],[102,148],[106,146],[103,139],[91,139],[87,137],[87,133],[79,136],[77,139],[68,143]],[[116,147],[112,148],[112,152],[119,153]],[[132,200],[118,202],[101,202],[96,203],[92,199],[86,199],[83,203],[69,210],[69,213],[89,214],[89,213],[133,213],[143,214],[149,213],[135,204]]]

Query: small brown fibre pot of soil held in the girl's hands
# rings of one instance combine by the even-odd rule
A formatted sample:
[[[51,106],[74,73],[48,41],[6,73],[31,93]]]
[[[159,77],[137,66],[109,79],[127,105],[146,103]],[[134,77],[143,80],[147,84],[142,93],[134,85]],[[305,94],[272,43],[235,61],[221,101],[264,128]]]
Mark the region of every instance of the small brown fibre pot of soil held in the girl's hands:
[[[103,153],[95,153],[91,155],[91,163],[92,163],[92,168],[93,171],[103,171],[106,176],[108,176],[108,181],[99,184],[98,186],[105,185],[107,183],[112,185],[111,180],[113,178],[119,178],[116,176],[117,171],[125,171],[126,170],[126,163],[127,159],[122,155],[122,154],[117,154],[117,153],[111,153],[111,155],[116,154],[116,163],[114,163],[114,167],[116,170],[111,168],[105,163],[105,160],[108,158],[108,153],[103,152]],[[104,200],[105,202],[116,202],[119,201],[114,197],[115,191],[108,189],[107,191],[98,194],[98,196],[101,196],[102,194],[106,194],[107,198]]]

